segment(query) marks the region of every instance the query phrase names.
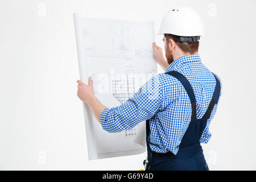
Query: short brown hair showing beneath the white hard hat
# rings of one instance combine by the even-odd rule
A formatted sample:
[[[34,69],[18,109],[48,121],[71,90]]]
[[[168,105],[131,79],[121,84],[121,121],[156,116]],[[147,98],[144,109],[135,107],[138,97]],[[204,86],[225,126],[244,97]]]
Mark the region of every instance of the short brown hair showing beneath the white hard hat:
[[[180,36],[172,35],[172,34],[164,34],[166,37],[166,40],[169,41],[170,39],[174,40],[176,42],[177,46],[181,49],[181,51],[189,52],[191,54],[194,54],[198,51],[199,48],[199,41],[188,43],[188,42],[178,42],[180,39]]]

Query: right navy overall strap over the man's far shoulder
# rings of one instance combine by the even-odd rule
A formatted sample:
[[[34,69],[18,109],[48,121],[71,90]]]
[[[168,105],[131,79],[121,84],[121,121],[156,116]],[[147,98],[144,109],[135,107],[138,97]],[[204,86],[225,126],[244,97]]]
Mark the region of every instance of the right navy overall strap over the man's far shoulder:
[[[213,76],[215,77],[216,80],[216,86],[213,92],[213,96],[212,96],[212,100],[210,101],[210,104],[207,108],[207,111],[205,112],[204,116],[202,119],[209,119],[210,118],[210,114],[212,114],[212,110],[215,104],[218,103],[218,98],[220,98],[220,80],[218,80],[218,78],[213,74]]]

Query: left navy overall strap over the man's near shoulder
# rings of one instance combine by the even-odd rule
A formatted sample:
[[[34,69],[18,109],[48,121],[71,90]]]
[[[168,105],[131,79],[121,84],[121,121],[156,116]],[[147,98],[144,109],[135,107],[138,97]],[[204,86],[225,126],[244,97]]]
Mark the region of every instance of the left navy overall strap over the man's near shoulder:
[[[166,72],[166,74],[177,78],[177,80],[179,80],[183,87],[185,88],[186,92],[188,93],[188,97],[190,99],[192,107],[191,121],[196,120],[196,96],[188,79],[184,75],[176,71]]]

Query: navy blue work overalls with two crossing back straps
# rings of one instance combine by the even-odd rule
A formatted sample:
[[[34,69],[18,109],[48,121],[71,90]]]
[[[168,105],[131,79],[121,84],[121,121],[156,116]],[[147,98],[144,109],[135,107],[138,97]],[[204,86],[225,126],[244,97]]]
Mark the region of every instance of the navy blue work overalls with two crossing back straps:
[[[176,71],[167,72],[166,74],[174,76],[184,86],[188,93],[192,106],[191,122],[179,144],[179,151],[176,155],[172,152],[158,153],[151,151],[150,148],[150,122],[146,121],[146,141],[147,141],[147,158],[148,164],[146,171],[148,170],[179,170],[179,171],[205,171],[209,170],[207,162],[205,161],[203,148],[200,145],[200,137],[204,131],[207,119],[210,118],[213,106],[217,104],[220,97],[220,81],[214,75],[216,79],[216,86],[213,93],[212,100],[205,112],[203,118],[196,118],[196,97],[193,92],[192,86],[181,73]]]

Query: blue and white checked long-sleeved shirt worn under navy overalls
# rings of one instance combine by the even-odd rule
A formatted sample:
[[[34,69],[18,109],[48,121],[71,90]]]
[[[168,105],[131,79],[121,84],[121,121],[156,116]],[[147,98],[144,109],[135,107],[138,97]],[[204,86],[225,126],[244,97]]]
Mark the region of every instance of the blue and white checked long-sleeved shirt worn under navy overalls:
[[[202,118],[216,86],[212,72],[201,62],[199,55],[179,57],[166,69],[169,71],[180,72],[189,80],[196,96],[197,118]],[[207,143],[212,135],[209,125],[216,109],[217,104],[200,138],[201,143]],[[171,151],[176,155],[191,121],[191,113],[191,102],[181,83],[175,77],[161,73],[147,81],[125,104],[104,109],[100,121],[104,130],[115,133],[150,119],[151,150]]]

